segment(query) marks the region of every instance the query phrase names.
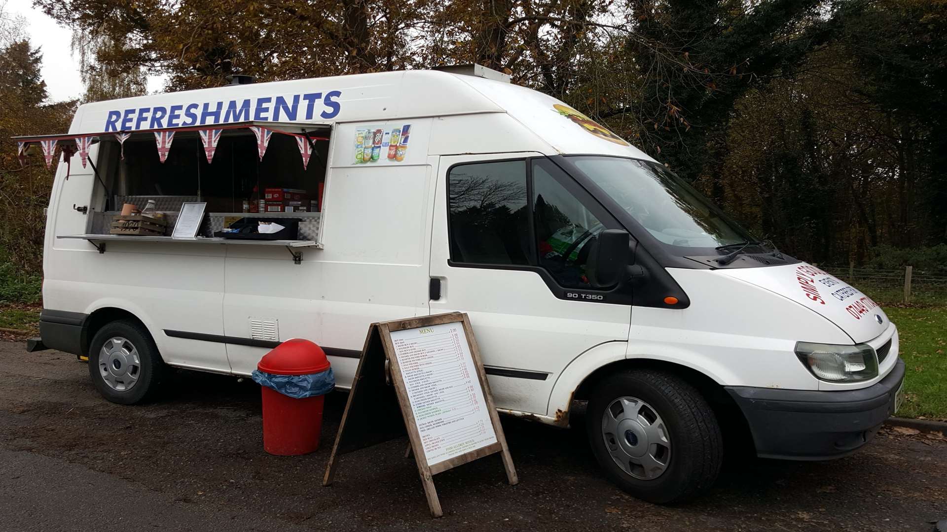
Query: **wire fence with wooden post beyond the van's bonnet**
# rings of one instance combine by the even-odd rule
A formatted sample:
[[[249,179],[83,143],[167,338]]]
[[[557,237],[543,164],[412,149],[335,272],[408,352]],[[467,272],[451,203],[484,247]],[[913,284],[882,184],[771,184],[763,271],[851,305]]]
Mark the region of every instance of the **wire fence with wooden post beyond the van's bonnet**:
[[[897,269],[819,265],[885,305],[947,305],[947,275],[911,266]]]

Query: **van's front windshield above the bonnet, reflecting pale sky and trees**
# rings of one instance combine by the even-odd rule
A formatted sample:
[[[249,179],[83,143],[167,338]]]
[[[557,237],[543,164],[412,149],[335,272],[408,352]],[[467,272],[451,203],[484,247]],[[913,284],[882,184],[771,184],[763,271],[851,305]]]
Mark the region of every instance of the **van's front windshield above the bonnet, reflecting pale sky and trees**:
[[[716,255],[720,251],[713,248],[754,241],[745,229],[660,164],[595,156],[571,156],[569,161],[677,255],[695,255],[698,250],[693,248],[710,248],[707,254]]]

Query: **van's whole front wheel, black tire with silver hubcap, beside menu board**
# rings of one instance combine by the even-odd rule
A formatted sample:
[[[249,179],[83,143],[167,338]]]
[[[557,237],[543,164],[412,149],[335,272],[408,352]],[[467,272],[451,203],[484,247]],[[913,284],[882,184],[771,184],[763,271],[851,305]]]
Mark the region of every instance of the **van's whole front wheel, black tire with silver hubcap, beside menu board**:
[[[699,495],[713,485],[724,461],[710,405],[666,371],[625,371],[599,382],[589,398],[586,427],[605,474],[650,503]]]

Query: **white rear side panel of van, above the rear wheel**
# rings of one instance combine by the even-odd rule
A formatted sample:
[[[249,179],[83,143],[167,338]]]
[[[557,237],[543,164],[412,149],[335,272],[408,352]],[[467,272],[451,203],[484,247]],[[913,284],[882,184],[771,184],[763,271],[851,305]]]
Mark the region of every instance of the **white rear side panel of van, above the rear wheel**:
[[[74,131],[80,129],[79,122],[77,117]],[[101,168],[99,146],[92,147],[90,159]],[[152,333],[166,362],[229,371],[223,345],[170,338],[163,332],[200,328],[223,334],[223,246],[109,242],[100,254],[86,240],[57,239],[86,233],[90,215],[73,204],[100,209],[105,194],[92,165],[82,168],[77,155],[70,167],[66,180],[66,165],[60,164],[50,198],[44,308],[85,315],[106,307],[128,310]]]

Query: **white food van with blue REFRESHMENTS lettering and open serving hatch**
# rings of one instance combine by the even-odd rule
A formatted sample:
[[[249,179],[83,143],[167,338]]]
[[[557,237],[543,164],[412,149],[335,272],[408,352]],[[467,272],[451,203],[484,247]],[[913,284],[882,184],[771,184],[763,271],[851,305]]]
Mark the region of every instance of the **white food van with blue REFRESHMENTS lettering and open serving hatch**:
[[[87,357],[115,402],[168,366],[249,375],[295,337],[346,388],[370,323],[459,310],[502,412],[565,427],[588,401],[602,470],[667,503],[708,488],[740,438],[853,452],[901,397],[897,329],[865,294],[482,67],[89,103],[69,133],[19,140],[80,151],[52,189],[32,347]],[[149,200],[169,227],[204,204],[196,236],[110,234]],[[298,234],[220,233],[266,217]]]

